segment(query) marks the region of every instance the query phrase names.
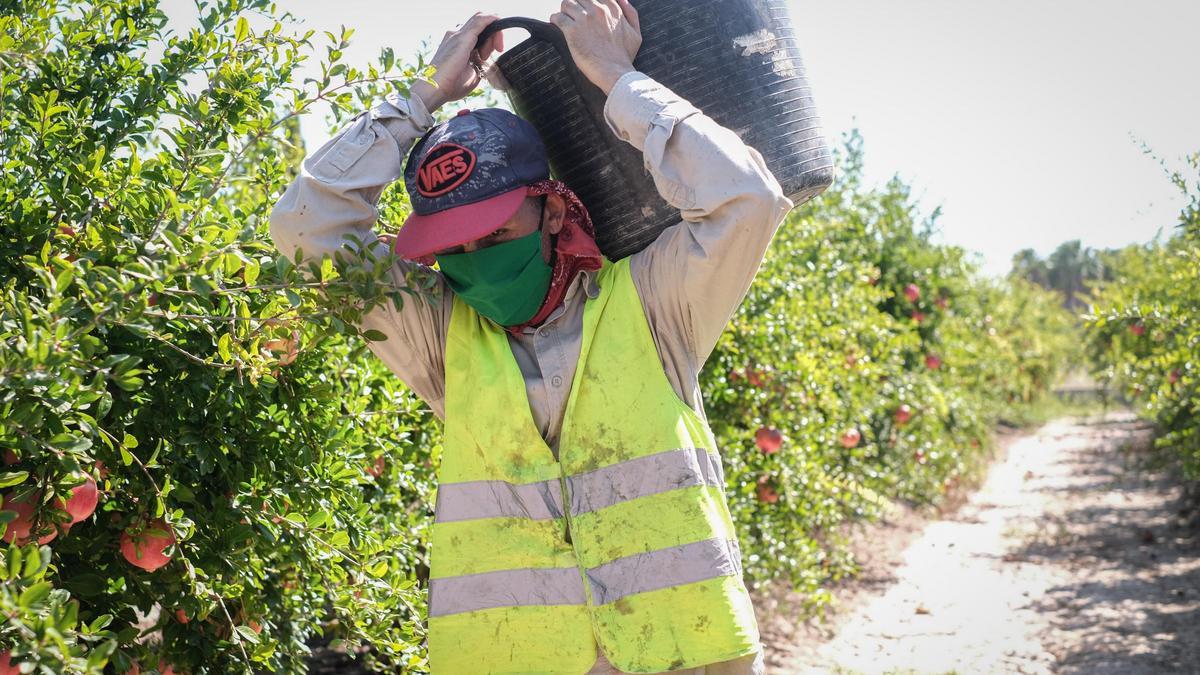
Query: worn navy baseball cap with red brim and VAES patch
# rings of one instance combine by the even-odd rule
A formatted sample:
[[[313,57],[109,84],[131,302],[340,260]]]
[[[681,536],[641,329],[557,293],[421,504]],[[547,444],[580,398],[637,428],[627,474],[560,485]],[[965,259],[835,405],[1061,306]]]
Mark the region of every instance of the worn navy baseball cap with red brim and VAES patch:
[[[532,124],[500,108],[461,110],[408,154],[413,213],[396,253],[415,259],[491,234],[521,208],[526,187],[546,178],[546,148]]]

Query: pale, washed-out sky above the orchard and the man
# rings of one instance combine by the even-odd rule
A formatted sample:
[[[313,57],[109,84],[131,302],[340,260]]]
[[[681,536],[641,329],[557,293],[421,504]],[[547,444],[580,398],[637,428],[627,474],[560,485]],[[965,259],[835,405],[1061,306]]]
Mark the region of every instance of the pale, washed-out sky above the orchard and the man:
[[[830,141],[857,126],[868,179],[908,180],[925,210],[942,207],[942,239],[978,252],[986,271],[1007,271],[1019,249],[1120,246],[1175,223],[1183,201],[1139,142],[1172,167],[1200,150],[1200,1],[790,5]],[[558,1],[278,6],[318,35],[355,28],[347,60],[360,65],[385,46],[415,53],[476,10],[545,19]],[[163,7],[173,26],[194,13],[187,0]],[[330,136],[319,115],[304,132],[311,149]]]

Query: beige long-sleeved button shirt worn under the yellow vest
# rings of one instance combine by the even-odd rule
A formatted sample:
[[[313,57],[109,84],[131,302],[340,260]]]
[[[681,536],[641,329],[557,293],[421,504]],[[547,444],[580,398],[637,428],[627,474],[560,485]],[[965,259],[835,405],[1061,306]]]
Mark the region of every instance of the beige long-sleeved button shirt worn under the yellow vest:
[[[617,82],[604,114],[613,133],[642,150],[659,193],[680,211],[680,222],[635,253],[630,268],[664,371],[676,393],[704,417],[700,369],[792,203],[756,150],[642,73]],[[346,234],[374,241],[379,196],[403,175],[409,148],[433,124],[420,98],[396,95],[355,117],[304,161],[271,211],[280,251],[290,256],[301,247],[306,258],[319,259],[343,246]],[[398,263],[394,282],[403,285],[415,267]],[[371,350],[444,418],[444,369],[454,368],[445,363],[454,297],[439,274],[436,279],[434,301],[408,299],[400,310],[385,303],[364,318],[362,328],[388,336],[371,342]],[[584,300],[598,293],[594,274],[582,271],[541,325],[509,334],[529,413],[556,453],[582,344]],[[714,664],[707,671],[748,673],[751,661],[738,659],[725,670]],[[601,658],[595,671],[604,671],[602,665]]]

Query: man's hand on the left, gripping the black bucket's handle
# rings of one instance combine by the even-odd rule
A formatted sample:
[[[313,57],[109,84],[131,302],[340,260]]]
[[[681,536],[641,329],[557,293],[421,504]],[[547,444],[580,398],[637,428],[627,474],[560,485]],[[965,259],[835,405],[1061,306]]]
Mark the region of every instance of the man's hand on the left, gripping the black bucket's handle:
[[[496,14],[475,12],[467,23],[446,31],[442,37],[442,44],[438,44],[431,60],[431,65],[437,68],[433,74],[436,85],[421,80],[412,88],[413,95],[421,97],[428,112],[432,113],[445,103],[464,98],[479,86],[479,73],[475,72],[472,61],[481,64],[493,53],[503,50],[504,37],[500,32],[492,35],[480,47],[478,54],[474,53],[475,42],[479,41],[479,34],[499,18]]]

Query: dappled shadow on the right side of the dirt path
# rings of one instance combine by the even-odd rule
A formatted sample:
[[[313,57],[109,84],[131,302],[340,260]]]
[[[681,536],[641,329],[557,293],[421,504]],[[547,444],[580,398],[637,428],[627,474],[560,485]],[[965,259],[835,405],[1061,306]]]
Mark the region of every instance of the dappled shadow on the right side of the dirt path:
[[[1073,569],[1032,607],[1056,671],[1200,673],[1200,508],[1148,434],[1111,425],[1060,458],[1076,478],[1014,560]],[[1060,488],[1060,494],[1062,494]]]

